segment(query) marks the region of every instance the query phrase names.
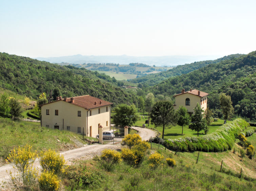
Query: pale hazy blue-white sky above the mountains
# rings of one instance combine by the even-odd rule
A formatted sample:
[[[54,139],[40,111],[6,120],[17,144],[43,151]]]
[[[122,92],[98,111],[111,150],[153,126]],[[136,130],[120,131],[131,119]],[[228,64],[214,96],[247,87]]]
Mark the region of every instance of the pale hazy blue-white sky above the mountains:
[[[29,57],[256,50],[256,1],[0,0],[0,52]]]

